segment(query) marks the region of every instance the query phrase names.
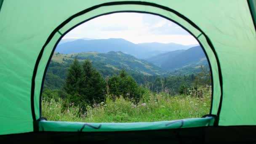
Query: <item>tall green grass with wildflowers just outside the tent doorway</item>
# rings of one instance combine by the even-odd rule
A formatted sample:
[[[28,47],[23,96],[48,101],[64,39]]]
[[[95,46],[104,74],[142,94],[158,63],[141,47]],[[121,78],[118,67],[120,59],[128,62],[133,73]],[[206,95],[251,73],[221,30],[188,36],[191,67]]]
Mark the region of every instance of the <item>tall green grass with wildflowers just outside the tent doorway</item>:
[[[184,95],[147,91],[136,103],[133,98],[107,95],[100,104],[87,105],[84,113],[68,101],[42,100],[42,115],[48,120],[77,122],[153,122],[202,117],[209,114],[211,87],[188,89]]]

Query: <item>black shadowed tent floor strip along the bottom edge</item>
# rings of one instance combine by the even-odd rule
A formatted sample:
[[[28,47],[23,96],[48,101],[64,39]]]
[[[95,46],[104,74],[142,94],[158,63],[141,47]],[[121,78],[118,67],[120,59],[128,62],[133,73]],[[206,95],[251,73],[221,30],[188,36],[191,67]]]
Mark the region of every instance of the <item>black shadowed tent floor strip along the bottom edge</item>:
[[[1,143],[255,143],[256,126],[219,126],[152,131],[30,132],[0,136]]]

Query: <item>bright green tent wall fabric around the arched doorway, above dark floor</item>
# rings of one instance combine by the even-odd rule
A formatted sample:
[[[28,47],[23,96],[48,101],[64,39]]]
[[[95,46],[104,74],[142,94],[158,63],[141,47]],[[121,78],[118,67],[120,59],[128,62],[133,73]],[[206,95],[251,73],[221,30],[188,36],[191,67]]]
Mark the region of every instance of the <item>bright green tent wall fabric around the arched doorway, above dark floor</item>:
[[[256,0],[0,2],[0,135],[63,124],[37,122],[43,78],[56,44],[77,25],[117,12],[151,13],[186,29],[197,38],[211,65],[209,114],[217,115],[215,126],[256,125]]]

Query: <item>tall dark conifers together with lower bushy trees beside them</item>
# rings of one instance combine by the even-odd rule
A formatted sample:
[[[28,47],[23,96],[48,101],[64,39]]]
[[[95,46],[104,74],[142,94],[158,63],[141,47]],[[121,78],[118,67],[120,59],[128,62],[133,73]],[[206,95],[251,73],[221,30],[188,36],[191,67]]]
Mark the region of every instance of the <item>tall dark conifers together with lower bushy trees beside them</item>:
[[[123,96],[139,101],[144,93],[144,88],[123,69],[119,75],[103,78],[102,75],[93,68],[91,61],[85,60],[83,64],[75,59],[67,69],[67,77],[64,85],[59,90],[43,91],[46,99],[67,98],[69,103],[80,105],[82,108],[87,104],[96,104],[105,101],[106,94],[113,96]]]

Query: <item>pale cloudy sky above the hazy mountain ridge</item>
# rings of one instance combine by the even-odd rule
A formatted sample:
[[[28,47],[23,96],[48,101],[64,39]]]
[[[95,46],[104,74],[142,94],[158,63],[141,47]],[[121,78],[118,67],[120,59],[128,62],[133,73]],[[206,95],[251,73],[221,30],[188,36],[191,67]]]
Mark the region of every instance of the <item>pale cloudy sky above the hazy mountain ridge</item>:
[[[198,44],[197,40],[179,25],[146,13],[114,13],[99,16],[72,29],[63,39],[123,38],[132,43]]]

